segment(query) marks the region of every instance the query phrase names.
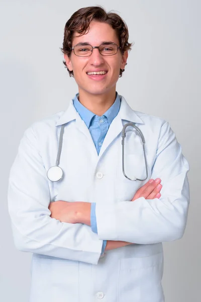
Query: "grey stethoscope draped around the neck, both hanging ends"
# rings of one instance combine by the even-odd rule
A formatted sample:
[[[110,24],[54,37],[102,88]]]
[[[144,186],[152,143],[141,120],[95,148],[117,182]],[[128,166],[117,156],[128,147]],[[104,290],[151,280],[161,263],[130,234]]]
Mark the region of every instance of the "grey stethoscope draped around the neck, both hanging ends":
[[[126,137],[126,128],[128,126],[132,126],[133,128],[135,128],[138,131],[138,133],[140,134],[140,137],[142,139],[142,147],[143,147],[145,168],[146,168],[146,178],[145,179],[139,179],[135,176],[133,177],[133,179],[131,179],[126,175],[125,170],[124,170],[124,139]],[[61,131],[60,131],[60,135],[59,135],[59,146],[58,146],[58,152],[57,152],[56,165],[53,167],[50,167],[47,171],[47,178],[53,182],[59,181],[63,177],[63,170],[59,167],[61,149],[62,149],[62,143],[63,143],[63,132],[64,132],[64,125],[61,126]],[[142,134],[142,131],[133,122],[129,122],[129,123],[125,124],[122,129],[122,170],[123,170],[124,176],[133,181],[136,181],[136,180],[144,181],[148,178],[148,168],[147,168],[147,159],[146,159],[146,153],[145,153],[144,135]]]

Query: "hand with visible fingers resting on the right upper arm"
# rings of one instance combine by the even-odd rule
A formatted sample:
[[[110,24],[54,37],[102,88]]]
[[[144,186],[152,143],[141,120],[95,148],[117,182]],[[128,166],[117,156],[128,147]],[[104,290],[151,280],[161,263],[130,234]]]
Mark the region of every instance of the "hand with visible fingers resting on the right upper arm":
[[[156,178],[155,180],[150,179],[144,186],[142,186],[134,195],[131,201],[136,200],[137,198],[144,197],[145,199],[154,199],[160,198],[161,194],[159,193],[162,185],[160,184],[161,179]]]

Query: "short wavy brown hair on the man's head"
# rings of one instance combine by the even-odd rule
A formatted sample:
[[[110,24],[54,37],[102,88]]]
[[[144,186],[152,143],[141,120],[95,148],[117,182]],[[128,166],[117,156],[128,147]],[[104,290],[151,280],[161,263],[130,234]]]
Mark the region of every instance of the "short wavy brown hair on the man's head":
[[[64,28],[63,48],[61,48],[63,54],[67,54],[67,56],[70,57],[74,32],[84,35],[88,32],[89,24],[92,20],[108,23],[113,29],[115,29],[122,54],[127,50],[131,50],[133,43],[128,42],[129,32],[124,20],[116,13],[107,13],[101,6],[93,6],[79,9],[66,22]],[[65,61],[63,61],[63,63],[67,68],[70,77],[73,77],[73,71],[68,69]],[[120,68],[120,78],[122,77],[123,71],[124,69]]]

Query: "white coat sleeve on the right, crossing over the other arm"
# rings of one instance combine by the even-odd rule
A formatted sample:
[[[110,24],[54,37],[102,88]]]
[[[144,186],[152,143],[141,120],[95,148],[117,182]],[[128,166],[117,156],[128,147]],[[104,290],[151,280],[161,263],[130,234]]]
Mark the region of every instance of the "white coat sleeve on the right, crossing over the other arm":
[[[185,231],[189,205],[188,163],[168,122],[160,130],[151,178],[159,177],[161,198],[118,203],[97,203],[98,238],[136,244],[180,239]]]

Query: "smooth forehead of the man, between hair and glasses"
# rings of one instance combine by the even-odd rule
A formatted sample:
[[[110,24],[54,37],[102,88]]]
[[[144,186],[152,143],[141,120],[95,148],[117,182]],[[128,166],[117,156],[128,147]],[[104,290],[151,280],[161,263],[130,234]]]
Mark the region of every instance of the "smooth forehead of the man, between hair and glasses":
[[[119,44],[116,31],[107,23],[91,21],[89,31],[86,34],[80,35],[77,32],[74,33],[72,44],[89,43],[94,46],[106,41]]]

